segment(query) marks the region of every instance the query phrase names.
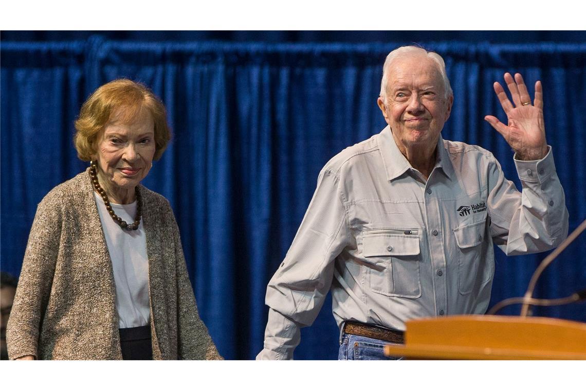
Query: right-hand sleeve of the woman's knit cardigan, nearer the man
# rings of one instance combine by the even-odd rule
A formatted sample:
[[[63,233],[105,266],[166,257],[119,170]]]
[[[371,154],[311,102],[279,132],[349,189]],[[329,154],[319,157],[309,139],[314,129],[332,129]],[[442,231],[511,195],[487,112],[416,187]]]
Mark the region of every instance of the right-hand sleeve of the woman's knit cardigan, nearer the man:
[[[175,240],[177,273],[178,356],[183,360],[223,360],[206,325],[199,317],[175,219],[173,219],[173,239]]]

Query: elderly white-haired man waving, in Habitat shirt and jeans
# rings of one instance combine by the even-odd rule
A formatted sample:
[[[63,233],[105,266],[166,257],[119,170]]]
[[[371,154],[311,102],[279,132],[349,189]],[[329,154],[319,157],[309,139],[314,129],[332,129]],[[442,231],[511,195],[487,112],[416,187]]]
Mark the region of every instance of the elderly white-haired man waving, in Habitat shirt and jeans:
[[[378,99],[387,126],[336,155],[285,260],[267,288],[270,307],[257,359],[292,359],[332,290],[340,359],[384,358],[405,321],[483,314],[495,270],[508,255],[557,246],[568,213],[545,137],[541,83],[532,104],[520,74],[513,98],[494,89],[509,123],[487,116],[515,151],[520,193],[493,155],[443,140],[452,101],[444,60],[420,47],[387,56]]]

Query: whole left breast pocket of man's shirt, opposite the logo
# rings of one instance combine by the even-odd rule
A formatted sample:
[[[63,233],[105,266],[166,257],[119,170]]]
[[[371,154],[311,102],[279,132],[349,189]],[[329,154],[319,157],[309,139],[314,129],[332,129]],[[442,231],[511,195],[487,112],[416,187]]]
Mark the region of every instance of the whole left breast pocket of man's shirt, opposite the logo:
[[[369,268],[367,280],[372,291],[387,296],[421,297],[417,230],[364,231],[362,255]]]

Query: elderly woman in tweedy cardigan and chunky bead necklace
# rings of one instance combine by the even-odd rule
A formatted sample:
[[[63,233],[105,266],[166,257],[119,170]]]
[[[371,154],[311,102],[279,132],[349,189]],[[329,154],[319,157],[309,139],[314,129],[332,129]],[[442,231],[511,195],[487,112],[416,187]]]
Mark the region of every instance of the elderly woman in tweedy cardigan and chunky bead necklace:
[[[81,107],[90,167],[39,203],[8,324],[11,359],[221,359],[199,315],[169,202],[140,185],[170,138],[165,107],[114,80]]]

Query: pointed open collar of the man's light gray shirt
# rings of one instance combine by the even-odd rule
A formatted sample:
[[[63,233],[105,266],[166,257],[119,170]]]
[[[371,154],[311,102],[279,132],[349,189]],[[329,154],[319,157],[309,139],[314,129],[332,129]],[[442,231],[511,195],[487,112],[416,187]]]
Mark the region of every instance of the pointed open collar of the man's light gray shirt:
[[[389,125],[380,132],[378,141],[384,169],[387,172],[387,180],[392,181],[412,168],[407,158],[399,151]],[[436,148],[439,153],[436,155],[435,166],[441,168],[442,172],[452,179],[454,167],[452,167],[452,162],[449,159],[448,151],[445,149],[444,139],[441,134],[438,137]]]

